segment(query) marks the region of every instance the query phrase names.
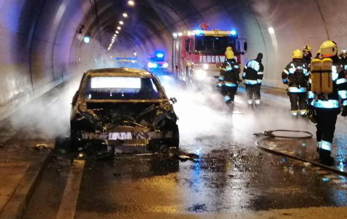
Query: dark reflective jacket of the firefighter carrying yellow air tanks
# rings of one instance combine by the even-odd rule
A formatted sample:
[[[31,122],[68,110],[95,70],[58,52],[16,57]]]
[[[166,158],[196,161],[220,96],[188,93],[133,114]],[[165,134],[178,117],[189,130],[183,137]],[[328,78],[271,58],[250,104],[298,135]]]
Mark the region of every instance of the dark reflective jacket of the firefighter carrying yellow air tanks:
[[[331,57],[332,63],[332,80],[333,89],[331,94],[314,95],[311,105],[314,108],[339,109],[340,103],[347,107],[347,79],[346,70],[342,68],[337,56]]]

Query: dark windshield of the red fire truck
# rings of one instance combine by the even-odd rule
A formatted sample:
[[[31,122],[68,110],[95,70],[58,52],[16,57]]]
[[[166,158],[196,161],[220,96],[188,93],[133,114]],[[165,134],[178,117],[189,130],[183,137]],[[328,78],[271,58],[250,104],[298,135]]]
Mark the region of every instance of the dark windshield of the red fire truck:
[[[195,36],[195,52],[201,54],[224,54],[227,47],[235,51],[235,39],[231,36]]]

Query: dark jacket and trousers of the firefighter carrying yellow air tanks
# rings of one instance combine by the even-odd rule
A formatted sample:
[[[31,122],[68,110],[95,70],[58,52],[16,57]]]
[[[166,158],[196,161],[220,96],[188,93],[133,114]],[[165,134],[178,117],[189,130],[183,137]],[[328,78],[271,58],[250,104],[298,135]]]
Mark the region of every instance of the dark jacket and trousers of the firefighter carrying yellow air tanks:
[[[345,70],[342,68],[337,56],[330,58],[333,60],[333,91],[328,95],[315,95],[311,103],[317,115],[317,147],[322,162],[325,162],[325,159],[330,157],[337,115],[341,111],[340,103],[344,107],[342,115],[346,116],[347,113],[347,79],[345,78]]]

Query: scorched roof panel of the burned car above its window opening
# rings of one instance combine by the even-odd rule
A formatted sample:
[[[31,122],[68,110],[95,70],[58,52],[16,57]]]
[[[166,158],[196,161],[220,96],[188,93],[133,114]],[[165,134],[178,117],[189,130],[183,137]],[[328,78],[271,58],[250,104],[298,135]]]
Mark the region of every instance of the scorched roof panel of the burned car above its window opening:
[[[154,75],[146,70],[137,68],[102,68],[92,69],[85,73],[93,77],[96,76],[113,76],[113,77],[147,77],[152,78]]]

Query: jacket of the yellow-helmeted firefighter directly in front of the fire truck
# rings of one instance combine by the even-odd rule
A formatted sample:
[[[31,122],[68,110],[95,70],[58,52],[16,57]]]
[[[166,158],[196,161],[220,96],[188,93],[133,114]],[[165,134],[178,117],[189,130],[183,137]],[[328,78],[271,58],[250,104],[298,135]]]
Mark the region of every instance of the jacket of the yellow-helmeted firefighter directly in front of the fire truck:
[[[226,60],[221,69],[218,81],[224,86],[235,87],[240,81],[240,66],[235,59]]]

